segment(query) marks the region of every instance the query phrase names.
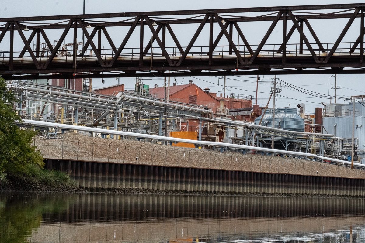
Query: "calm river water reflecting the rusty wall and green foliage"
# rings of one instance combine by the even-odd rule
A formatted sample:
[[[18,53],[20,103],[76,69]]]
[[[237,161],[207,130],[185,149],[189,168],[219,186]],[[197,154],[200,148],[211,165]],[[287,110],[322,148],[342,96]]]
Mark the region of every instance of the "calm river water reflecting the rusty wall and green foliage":
[[[0,193],[0,242],[365,242],[365,199]]]

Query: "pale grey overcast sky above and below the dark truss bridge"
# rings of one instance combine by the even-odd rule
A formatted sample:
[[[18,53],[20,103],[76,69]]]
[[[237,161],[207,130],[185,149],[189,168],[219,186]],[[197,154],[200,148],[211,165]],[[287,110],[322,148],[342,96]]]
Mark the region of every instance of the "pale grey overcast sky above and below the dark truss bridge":
[[[269,1],[269,0],[255,0],[255,1],[234,1],[234,0],[183,0],[183,1],[166,1],[166,0],[134,0],[134,1],[117,1],[117,0],[86,0],[85,13],[111,13],[111,12],[140,12],[140,11],[162,11],[162,10],[185,10],[185,9],[210,9],[210,8],[238,8],[238,7],[268,7],[268,6],[289,6],[289,5],[312,5],[312,4],[348,4],[348,3],[362,3],[362,1],[351,0],[306,0],[306,1],[293,1],[293,0],[281,0],[281,1]],[[82,13],[83,0],[0,0],[0,16],[1,17],[25,17],[25,16],[45,16],[45,15],[68,15],[68,14],[80,14]],[[316,30],[320,36],[322,42],[334,41],[339,32],[341,32],[346,21],[329,20],[323,21],[325,26],[316,26],[312,24],[312,27]],[[360,22],[359,22],[360,23]],[[257,25],[258,24],[258,25]],[[270,23],[256,23],[251,29],[245,32],[246,38],[250,44],[257,44],[256,42],[262,39],[265,31]],[[328,24],[328,26],[327,26]],[[261,26],[260,26],[261,25]],[[340,28],[336,28],[336,25]],[[259,31],[260,27],[264,30],[263,33],[255,33]],[[345,41],[355,41],[359,32],[357,26],[349,30],[349,33],[345,36]],[[290,28],[290,26],[288,27]],[[356,28],[356,29],[355,29]],[[280,27],[279,27],[280,29]],[[182,31],[181,31],[182,32]],[[184,35],[184,33],[179,33]],[[250,35],[251,34],[251,35]],[[113,35],[113,33],[111,34]],[[178,34],[177,34],[178,35]],[[280,30],[279,35],[280,36]],[[331,39],[332,37],[332,39]],[[179,37],[178,37],[179,38]],[[295,38],[293,35],[292,38]],[[328,39],[329,38],[329,39]],[[179,39],[180,40],[180,39]],[[275,40],[268,40],[269,44],[274,43]],[[296,42],[296,40],[293,40]],[[279,42],[278,42],[279,43]],[[119,43],[115,43],[119,46]],[[1,48],[0,44],[0,48]],[[8,47],[7,47],[8,48]],[[6,48],[4,48],[6,50]],[[320,102],[329,103],[329,99],[313,97],[311,94],[314,92],[320,94],[334,94],[333,90],[329,90],[334,86],[334,78],[329,78],[331,75],[280,75],[279,79],[286,83],[290,83],[293,86],[297,86],[306,90],[309,90],[309,94],[299,93],[294,91],[293,88],[283,86],[281,97],[277,99],[276,107],[285,107],[291,104],[291,107],[296,107],[296,104],[304,103],[308,112],[314,113],[315,107],[322,107]],[[337,85],[342,88],[337,91],[338,95],[343,94],[344,97],[350,97],[351,95],[364,95],[364,74],[339,74],[337,75]],[[190,79],[194,83],[198,84],[202,89],[209,87],[212,92],[218,92],[223,89],[223,79],[220,77],[178,77],[178,84],[186,84]],[[270,86],[273,75],[261,76],[263,78],[259,82],[258,104],[266,105],[267,99],[270,93]],[[256,90],[256,77],[227,77],[227,94],[230,92],[241,95],[255,96]],[[208,82],[205,82],[208,81]],[[93,79],[93,87],[110,86],[116,84],[118,81],[113,79],[106,79],[104,85],[101,84],[100,79]],[[125,83],[127,89],[134,88],[135,78],[120,79],[120,83]],[[158,84],[163,85],[162,78],[154,78],[152,81],[145,80],[146,84],[153,86]],[[171,81],[171,85],[173,78]],[[329,84],[330,82],[330,84]],[[285,98],[289,97],[289,98]],[[343,100],[341,100],[343,102]],[[253,98],[254,103],[254,98]],[[347,101],[345,101],[347,103]],[[271,105],[272,106],[272,105]],[[270,107],[271,107],[270,106]]]

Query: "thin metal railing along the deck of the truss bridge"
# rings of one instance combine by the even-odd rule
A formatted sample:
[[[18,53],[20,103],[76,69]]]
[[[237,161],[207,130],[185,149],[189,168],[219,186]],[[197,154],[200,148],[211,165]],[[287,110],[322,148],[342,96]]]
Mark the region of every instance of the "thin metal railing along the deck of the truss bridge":
[[[319,48],[316,43],[311,43],[311,46],[318,56],[326,56],[330,51],[331,48],[334,46],[335,43],[322,43],[323,49]],[[336,48],[334,54],[337,55],[359,55],[360,49],[356,48],[353,50],[354,42],[342,42]],[[300,48],[299,43],[288,43],[286,48],[286,56],[303,56],[303,55],[311,55],[310,50],[307,48],[305,44],[303,44],[303,48]],[[255,52],[258,45],[250,45],[250,48]],[[260,51],[259,55],[265,57],[280,57],[282,56],[282,52],[280,50],[281,44],[265,44],[265,46]],[[168,52],[170,58],[179,59],[181,57],[181,53],[177,50],[176,47],[165,47],[166,51]],[[185,50],[186,47],[183,47]],[[81,50],[77,50],[81,51]],[[242,58],[249,58],[251,57],[251,53],[247,50],[245,45],[238,46],[238,51]],[[48,60],[48,57],[51,55],[49,50],[39,51],[39,57],[37,58],[40,63],[45,63]],[[59,51],[57,56],[54,58],[53,62],[70,62],[74,61],[74,57],[72,55],[73,50],[67,51]],[[78,52],[77,52],[78,53]],[[24,62],[22,59],[18,60],[18,56],[21,54],[20,51],[14,51],[14,63],[22,63]],[[207,58],[209,54],[209,46],[194,46],[188,53],[188,56],[192,57],[200,57],[201,59]],[[115,54],[114,50],[111,48],[103,48],[100,50],[100,55],[104,61],[110,60]],[[229,46],[216,46],[213,51],[214,56],[236,56],[234,51],[230,49]],[[24,57],[30,58],[28,52],[24,54]],[[139,59],[139,48],[124,48],[119,55],[121,58],[127,59]],[[160,47],[151,47],[150,50],[144,55],[146,58],[152,59],[161,59],[164,58],[163,53],[161,52]],[[60,58],[59,60],[57,58]],[[78,60],[84,59],[85,61],[88,60],[97,60],[97,56],[93,50],[87,50],[83,55],[80,53],[77,54]],[[0,52],[0,64],[6,64],[9,62],[9,51],[1,51]]]

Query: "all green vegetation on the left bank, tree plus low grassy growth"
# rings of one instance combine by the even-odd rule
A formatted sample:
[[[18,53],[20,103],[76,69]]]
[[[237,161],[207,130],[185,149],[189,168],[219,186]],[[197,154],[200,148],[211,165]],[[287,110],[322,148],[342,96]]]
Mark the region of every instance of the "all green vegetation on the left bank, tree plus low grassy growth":
[[[14,109],[16,102],[15,94],[0,77],[0,184],[7,182],[8,175],[50,187],[73,185],[66,173],[43,169],[42,154],[31,144],[36,132],[20,130],[14,124],[21,122]]]

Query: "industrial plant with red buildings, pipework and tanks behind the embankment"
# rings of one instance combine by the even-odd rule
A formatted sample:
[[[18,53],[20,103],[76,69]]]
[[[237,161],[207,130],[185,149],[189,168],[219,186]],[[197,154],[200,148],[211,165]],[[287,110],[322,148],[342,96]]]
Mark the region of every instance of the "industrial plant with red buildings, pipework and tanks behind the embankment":
[[[299,112],[293,107],[272,109],[253,105],[250,96],[217,95],[193,81],[150,88],[139,78],[134,90],[125,90],[124,84],[92,90],[89,79],[12,81],[10,86],[18,94],[18,110],[24,119],[314,153],[341,160],[351,160],[354,144],[354,160],[365,160],[362,97],[354,109],[352,142],[348,126],[353,118],[352,103],[324,104],[323,109],[316,108],[315,114],[306,114],[303,103],[298,105]],[[84,135],[127,139],[98,133]],[[183,143],[176,146],[194,147]]]

